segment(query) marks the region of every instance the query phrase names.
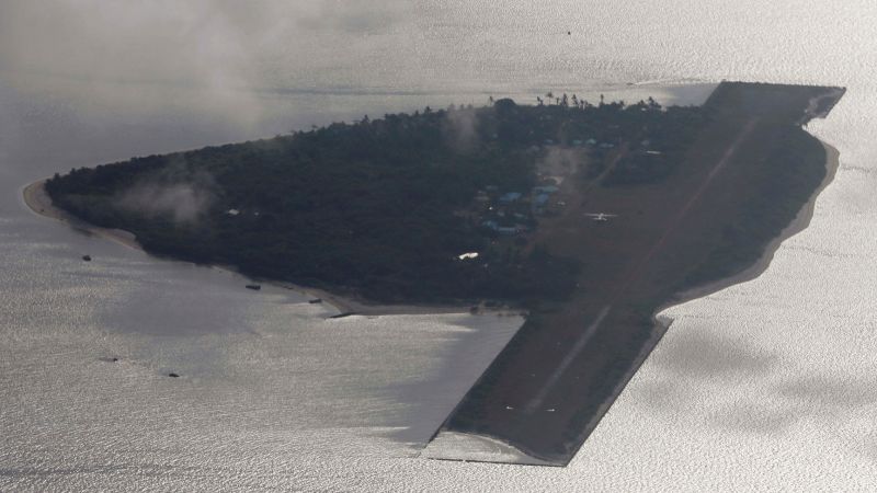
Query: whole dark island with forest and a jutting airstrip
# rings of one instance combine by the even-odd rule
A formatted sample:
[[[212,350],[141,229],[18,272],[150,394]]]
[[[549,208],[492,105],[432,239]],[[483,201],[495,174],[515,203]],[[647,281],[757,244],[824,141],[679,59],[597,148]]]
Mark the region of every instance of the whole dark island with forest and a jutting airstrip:
[[[802,126],[843,93],[491,99],[75,169],[29,193],[262,282],[525,313],[436,435],[563,466],[668,329],[656,313],[758,275],[802,227],[836,163]]]

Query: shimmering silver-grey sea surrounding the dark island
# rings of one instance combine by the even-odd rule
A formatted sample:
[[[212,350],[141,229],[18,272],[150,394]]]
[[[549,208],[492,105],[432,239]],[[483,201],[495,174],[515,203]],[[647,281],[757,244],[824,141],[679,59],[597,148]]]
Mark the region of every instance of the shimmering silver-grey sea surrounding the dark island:
[[[0,491],[877,490],[877,3],[0,3]],[[840,170],[761,277],[665,312],[565,469],[420,457],[517,318],[327,320],[21,199],[73,167],[365,114],[696,104],[722,79],[847,87],[809,126]]]

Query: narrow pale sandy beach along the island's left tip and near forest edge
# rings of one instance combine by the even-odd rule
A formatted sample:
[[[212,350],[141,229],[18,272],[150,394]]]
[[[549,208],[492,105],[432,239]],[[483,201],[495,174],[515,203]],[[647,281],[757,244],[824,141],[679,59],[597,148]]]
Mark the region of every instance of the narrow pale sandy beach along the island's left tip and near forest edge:
[[[140,245],[140,243],[137,242],[137,237],[130,231],[125,231],[123,229],[101,228],[99,226],[86,222],[82,219],[79,219],[72,216],[71,214],[67,213],[66,210],[56,207],[52,203],[52,197],[48,196],[48,193],[46,193],[45,190],[45,183],[47,180],[48,179],[37,180],[33,183],[27,184],[22,190],[22,197],[24,204],[27,206],[27,208],[31,209],[31,211],[33,211],[38,216],[43,216],[49,219],[64,222],[70,226],[71,228],[84,232],[87,234],[93,234],[103,238],[105,240],[110,240],[115,243],[122,244],[129,249],[138,250],[140,252],[149,254],[149,252],[147,252],[143,248],[143,245]],[[478,306],[478,310],[476,312],[472,312],[471,305],[436,305],[436,306],[373,305],[361,299],[337,295],[320,288],[308,288],[304,286],[298,286],[296,284],[288,283],[285,280],[267,280],[267,279],[252,278],[246,276],[244,274],[241,274],[235,267],[228,265],[208,264],[208,266],[210,268],[216,268],[223,272],[247,277],[260,284],[292,290],[304,297],[310,298],[310,300],[320,299],[321,305],[331,306],[335,311],[338,311],[338,314],[333,316],[333,318],[342,318],[348,316],[380,317],[380,316],[400,316],[400,314],[413,314],[413,316],[421,316],[421,314],[476,316],[477,314],[477,316],[497,316],[497,317],[520,317],[524,312],[524,310],[514,309],[510,307],[486,308],[483,306]]]

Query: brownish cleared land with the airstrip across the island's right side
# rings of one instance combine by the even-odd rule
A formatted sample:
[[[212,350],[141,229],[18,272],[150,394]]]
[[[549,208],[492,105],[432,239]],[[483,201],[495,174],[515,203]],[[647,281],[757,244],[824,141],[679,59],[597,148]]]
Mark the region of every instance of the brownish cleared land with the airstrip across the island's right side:
[[[531,313],[442,429],[568,463],[660,340],[658,307],[752,265],[817,190],[825,152],[800,125],[842,94],[722,83],[705,104],[709,123],[669,177],[604,185],[620,146],[600,176],[579,170],[563,180],[565,205],[540,219],[535,241],[580,261],[578,289]]]

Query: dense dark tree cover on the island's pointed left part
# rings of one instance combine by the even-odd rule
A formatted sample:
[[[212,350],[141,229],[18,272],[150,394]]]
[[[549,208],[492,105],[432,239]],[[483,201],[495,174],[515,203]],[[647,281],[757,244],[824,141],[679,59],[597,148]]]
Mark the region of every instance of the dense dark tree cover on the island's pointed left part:
[[[46,190],[89,222],[134,232],[151,253],[257,277],[377,301],[562,299],[574,288],[577,263],[525,248],[525,232],[536,227],[528,191],[537,162],[551,148],[578,147],[602,163],[608,142],[631,140],[672,152],[704,117],[653,101],[569,101],[366,116],[72,170]],[[637,180],[667,174],[658,168]],[[486,209],[509,192],[525,197]],[[515,227],[515,241],[501,238]],[[479,256],[458,260],[465,252]]]

